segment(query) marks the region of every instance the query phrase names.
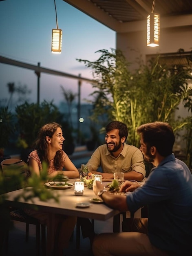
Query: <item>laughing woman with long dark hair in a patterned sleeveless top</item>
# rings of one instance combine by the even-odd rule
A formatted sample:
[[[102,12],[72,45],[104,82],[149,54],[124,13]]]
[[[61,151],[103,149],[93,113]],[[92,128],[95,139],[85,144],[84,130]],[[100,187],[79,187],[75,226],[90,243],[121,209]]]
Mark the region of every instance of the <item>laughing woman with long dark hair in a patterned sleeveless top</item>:
[[[27,160],[31,174],[36,173],[40,175],[42,172],[42,162],[46,162],[49,180],[53,180],[57,175],[66,175],[69,178],[79,177],[79,171],[68,155],[62,150],[64,140],[60,124],[53,122],[40,128],[36,141],[37,149],[29,154]],[[63,168],[65,171],[63,171]],[[49,223],[47,213],[28,209],[25,209],[25,212],[37,218],[40,223],[47,225],[49,232],[49,225],[52,223]],[[77,218],[74,216],[55,214],[55,241],[51,241],[53,243],[51,247],[54,248],[54,253],[57,253],[55,255],[62,256],[63,249],[68,247],[76,221]]]

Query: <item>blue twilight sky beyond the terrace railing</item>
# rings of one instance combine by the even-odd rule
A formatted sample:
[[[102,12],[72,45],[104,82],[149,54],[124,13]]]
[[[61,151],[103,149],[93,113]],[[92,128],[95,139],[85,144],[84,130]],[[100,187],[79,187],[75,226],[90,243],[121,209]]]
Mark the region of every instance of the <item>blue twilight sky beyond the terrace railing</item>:
[[[115,32],[62,0],[56,0],[58,27],[62,29],[62,53],[51,53],[56,28],[54,0],[0,1],[0,56],[92,79],[90,70],[76,58],[94,61],[97,50],[115,48]],[[37,101],[37,76],[33,70],[0,63],[0,100],[9,97],[7,83],[27,85],[31,102]],[[77,81],[41,73],[40,102],[63,96],[62,85],[77,92]],[[82,102],[93,91],[82,83]]]

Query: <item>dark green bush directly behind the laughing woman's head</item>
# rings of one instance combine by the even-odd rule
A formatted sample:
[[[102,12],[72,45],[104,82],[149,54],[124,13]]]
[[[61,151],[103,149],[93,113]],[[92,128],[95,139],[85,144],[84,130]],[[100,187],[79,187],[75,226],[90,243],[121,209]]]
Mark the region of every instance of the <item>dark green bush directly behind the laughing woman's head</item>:
[[[58,108],[47,101],[43,101],[40,105],[25,102],[17,106],[15,112],[20,131],[18,144],[24,145],[25,148],[26,145],[33,148],[38,131],[44,124],[61,119]]]

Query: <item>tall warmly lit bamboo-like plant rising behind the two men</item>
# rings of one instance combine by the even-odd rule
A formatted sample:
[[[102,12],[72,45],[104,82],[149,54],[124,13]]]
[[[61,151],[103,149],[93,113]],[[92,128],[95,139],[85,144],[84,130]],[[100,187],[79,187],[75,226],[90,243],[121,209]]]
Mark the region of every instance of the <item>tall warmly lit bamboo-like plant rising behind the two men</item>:
[[[121,121],[129,128],[128,143],[139,146],[136,129],[153,121],[169,122],[174,130],[188,124],[187,119],[177,119],[174,112],[182,101],[190,101],[192,89],[187,79],[192,79],[189,70],[182,66],[172,69],[159,64],[159,57],[149,65],[139,63],[139,69],[130,72],[130,63],[121,51],[99,50],[96,61],[78,59],[93,69],[92,93],[94,109],[92,119],[97,121],[105,115],[108,121]],[[191,106],[191,105],[190,105]],[[175,120],[176,119],[176,120]]]

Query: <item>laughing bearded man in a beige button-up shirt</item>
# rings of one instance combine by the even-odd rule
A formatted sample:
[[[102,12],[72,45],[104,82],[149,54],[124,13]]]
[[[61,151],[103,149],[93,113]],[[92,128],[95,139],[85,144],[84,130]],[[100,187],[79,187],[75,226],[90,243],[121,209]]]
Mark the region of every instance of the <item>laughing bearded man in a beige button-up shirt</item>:
[[[143,180],[146,175],[143,155],[139,148],[125,143],[127,136],[126,124],[113,121],[106,126],[106,144],[99,146],[87,163],[91,164],[92,173],[113,179],[114,172],[123,172],[125,180]],[[97,171],[100,166],[102,173]]]

